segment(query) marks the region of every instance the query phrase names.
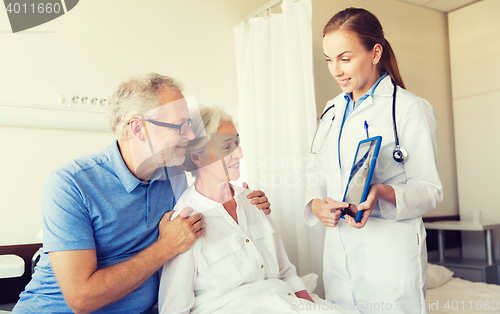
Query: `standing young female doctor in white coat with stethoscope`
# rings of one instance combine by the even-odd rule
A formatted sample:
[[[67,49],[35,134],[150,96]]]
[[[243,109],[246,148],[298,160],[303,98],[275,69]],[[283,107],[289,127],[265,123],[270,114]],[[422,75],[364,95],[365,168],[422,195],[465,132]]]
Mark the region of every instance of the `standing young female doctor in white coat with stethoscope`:
[[[329,101],[313,140],[304,219],[327,227],[326,299],[362,313],[427,313],[427,251],[421,216],[443,198],[433,107],[404,89],[378,19],[338,12],[323,50],[343,93]],[[395,100],[395,103],[393,103]],[[394,114],[394,117],[393,117]],[[339,209],[359,141],[382,144],[362,219]],[[404,147],[404,148],[403,148]]]

